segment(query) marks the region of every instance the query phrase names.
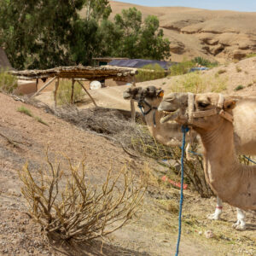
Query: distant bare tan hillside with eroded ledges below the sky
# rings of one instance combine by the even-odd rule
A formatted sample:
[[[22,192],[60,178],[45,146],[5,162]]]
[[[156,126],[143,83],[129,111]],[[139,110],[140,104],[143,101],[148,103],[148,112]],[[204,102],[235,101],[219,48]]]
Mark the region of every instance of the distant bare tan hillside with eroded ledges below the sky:
[[[241,59],[256,52],[256,13],[184,7],[145,7],[110,1],[112,17],[136,7],[160,20],[171,42],[172,61],[202,56],[217,61]],[[172,3],[170,2],[170,5]]]

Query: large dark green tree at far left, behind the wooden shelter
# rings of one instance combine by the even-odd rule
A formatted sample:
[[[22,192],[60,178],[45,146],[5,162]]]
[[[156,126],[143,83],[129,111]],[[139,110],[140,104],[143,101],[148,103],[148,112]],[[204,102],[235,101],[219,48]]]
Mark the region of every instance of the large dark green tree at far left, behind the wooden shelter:
[[[0,45],[14,67],[72,63],[67,38],[84,0],[0,0],[0,4]]]

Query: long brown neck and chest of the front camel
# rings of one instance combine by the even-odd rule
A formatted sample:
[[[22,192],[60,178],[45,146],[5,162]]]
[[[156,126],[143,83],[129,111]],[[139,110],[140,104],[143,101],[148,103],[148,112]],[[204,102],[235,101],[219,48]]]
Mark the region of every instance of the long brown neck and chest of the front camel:
[[[233,125],[223,119],[217,129],[198,133],[205,149],[205,175],[215,193],[234,207],[256,210],[256,167],[237,160]]]

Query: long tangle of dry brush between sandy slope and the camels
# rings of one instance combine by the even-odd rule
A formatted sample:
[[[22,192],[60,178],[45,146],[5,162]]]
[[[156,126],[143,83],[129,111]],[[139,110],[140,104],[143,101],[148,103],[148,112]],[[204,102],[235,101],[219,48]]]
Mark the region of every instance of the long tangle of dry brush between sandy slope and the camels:
[[[37,102],[30,103],[35,106],[38,105]],[[129,148],[130,151],[134,150],[134,154],[138,157],[146,155],[155,160],[169,160],[170,164],[168,166],[174,174],[172,179],[179,181],[179,173],[176,168],[180,166],[181,149],[166,147],[157,143],[154,137],[149,134],[147,125],[131,123],[131,113],[129,111],[109,108],[90,108],[79,111],[71,106],[57,109],[47,107],[43,106],[47,112],[55,113],[55,115],[73,125],[77,125],[86,131],[94,131],[113,138],[124,148]],[[137,116],[137,121],[143,123],[139,116]],[[195,161],[185,160],[184,172],[185,182],[191,184],[190,188],[195,189],[202,197],[212,195],[212,190],[205,181],[201,156],[195,155]]]

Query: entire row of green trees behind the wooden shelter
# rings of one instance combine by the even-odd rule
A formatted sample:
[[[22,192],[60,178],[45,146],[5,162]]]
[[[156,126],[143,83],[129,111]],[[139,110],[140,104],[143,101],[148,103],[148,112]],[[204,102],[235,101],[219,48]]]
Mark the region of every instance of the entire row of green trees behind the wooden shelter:
[[[159,21],[137,9],[108,20],[108,0],[0,0],[0,47],[13,67],[88,65],[93,56],[170,56]],[[80,11],[85,8],[82,19]]]

